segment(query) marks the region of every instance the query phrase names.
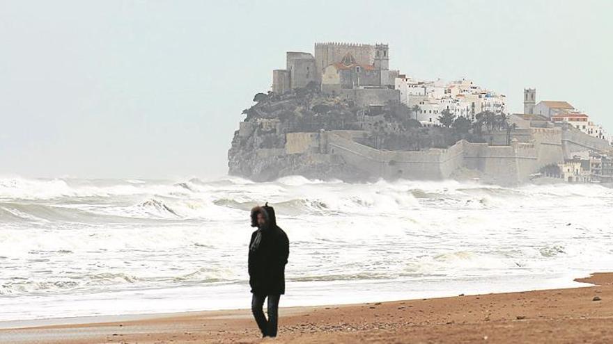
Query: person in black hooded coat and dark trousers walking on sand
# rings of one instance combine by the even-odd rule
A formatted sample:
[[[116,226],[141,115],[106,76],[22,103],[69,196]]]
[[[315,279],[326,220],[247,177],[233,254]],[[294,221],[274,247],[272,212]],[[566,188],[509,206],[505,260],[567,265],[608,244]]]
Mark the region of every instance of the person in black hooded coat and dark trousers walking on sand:
[[[290,254],[290,243],[283,229],[277,226],[274,208],[256,206],[251,209],[251,227],[258,227],[249,241],[249,286],[251,286],[251,312],[262,337],[277,336],[279,298],[285,293],[285,265]],[[268,299],[268,319],[262,309]]]

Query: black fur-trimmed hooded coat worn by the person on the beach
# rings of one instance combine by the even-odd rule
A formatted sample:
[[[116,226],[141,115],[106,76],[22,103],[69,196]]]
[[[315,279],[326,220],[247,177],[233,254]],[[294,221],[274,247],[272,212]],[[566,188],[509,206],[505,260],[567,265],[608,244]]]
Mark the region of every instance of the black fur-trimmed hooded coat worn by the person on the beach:
[[[272,206],[251,209],[251,227],[258,227],[258,213],[263,213],[266,226],[254,231],[249,241],[249,286],[258,295],[285,293],[285,265],[290,254],[290,243],[283,229],[277,226]],[[255,249],[251,246],[261,231],[261,240]]]

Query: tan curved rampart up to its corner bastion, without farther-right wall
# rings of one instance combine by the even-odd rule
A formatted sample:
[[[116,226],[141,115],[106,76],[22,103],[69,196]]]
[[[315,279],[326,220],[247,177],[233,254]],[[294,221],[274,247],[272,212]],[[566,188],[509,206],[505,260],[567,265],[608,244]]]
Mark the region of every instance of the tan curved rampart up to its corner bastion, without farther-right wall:
[[[474,170],[486,181],[521,183],[541,167],[564,161],[562,133],[559,128],[532,128],[511,136],[511,145],[461,140],[447,149],[426,151],[387,151],[356,142],[366,131],[288,133],[286,154],[340,156],[348,165],[385,179],[451,179],[458,171]]]

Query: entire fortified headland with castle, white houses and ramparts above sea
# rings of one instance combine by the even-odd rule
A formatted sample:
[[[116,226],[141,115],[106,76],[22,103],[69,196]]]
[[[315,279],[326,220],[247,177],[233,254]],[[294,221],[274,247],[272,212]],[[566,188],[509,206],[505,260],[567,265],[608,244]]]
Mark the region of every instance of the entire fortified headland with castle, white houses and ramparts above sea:
[[[535,89],[525,90],[524,113],[508,115],[504,95],[470,80],[424,81],[390,70],[387,44],[316,43],[314,56],[286,57],[286,69],[273,72],[273,92],[258,93],[243,111],[229,174],[613,180],[600,126],[566,101],[537,103]]]

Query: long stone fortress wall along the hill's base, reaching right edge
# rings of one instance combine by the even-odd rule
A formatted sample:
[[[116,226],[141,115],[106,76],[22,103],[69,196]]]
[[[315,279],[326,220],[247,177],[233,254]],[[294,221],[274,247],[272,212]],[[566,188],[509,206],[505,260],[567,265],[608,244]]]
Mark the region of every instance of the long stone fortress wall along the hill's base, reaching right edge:
[[[243,131],[245,133],[243,133]],[[240,136],[253,128],[240,126]],[[479,177],[486,182],[522,183],[542,167],[564,162],[568,152],[591,149],[610,152],[601,140],[580,131],[552,128],[518,129],[486,134],[491,142],[456,142],[447,149],[389,151],[362,145],[364,130],[332,130],[286,133],[284,149],[258,149],[258,158],[295,156],[309,164],[347,165],[370,177],[385,179],[467,179]],[[304,167],[303,166],[303,167]],[[291,171],[289,171],[291,172]]]

